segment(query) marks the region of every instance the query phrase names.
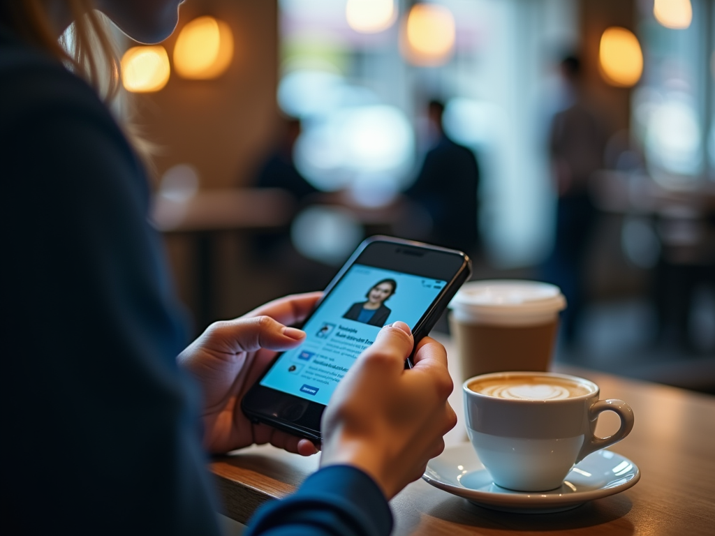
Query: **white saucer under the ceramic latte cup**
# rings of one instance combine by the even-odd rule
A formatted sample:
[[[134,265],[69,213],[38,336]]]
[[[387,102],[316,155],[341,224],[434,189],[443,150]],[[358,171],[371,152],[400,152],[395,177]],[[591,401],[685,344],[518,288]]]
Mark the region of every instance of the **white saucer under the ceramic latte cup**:
[[[427,464],[422,475],[440,490],[475,505],[503,512],[548,513],[628,490],[641,478],[636,464],[616,452],[599,450],[576,464],[556,490],[517,492],[495,485],[472,445],[449,447]]]

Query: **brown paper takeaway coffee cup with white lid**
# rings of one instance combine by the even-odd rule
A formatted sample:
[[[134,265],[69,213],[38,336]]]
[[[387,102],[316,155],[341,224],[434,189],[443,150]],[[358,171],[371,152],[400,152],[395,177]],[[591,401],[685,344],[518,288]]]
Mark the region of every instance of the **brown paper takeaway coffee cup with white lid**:
[[[558,312],[566,307],[558,287],[536,281],[474,281],[462,286],[449,307],[463,378],[548,370]]]

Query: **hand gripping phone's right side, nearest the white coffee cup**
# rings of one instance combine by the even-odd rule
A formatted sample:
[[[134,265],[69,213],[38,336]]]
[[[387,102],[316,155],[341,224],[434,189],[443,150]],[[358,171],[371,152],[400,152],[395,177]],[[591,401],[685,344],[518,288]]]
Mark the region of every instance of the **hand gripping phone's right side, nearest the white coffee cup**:
[[[385,326],[345,374],[322,417],[321,465],[347,464],[373,477],[388,500],[423,475],[457,424],[444,347],[425,337],[413,369],[404,322]]]

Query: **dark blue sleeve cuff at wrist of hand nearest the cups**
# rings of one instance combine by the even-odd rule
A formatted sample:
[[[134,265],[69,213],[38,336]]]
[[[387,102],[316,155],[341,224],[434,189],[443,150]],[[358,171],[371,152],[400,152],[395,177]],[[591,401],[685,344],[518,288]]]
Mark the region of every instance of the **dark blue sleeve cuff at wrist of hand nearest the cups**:
[[[249,526],[246,536],[387,536],[393,517],[372,478],[333,465],[310,475],[290,497],[261,507]]]

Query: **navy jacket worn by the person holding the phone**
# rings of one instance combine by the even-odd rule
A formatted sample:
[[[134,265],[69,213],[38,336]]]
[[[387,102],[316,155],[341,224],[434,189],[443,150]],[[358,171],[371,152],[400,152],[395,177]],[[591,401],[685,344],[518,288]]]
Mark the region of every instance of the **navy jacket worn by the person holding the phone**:
[[[141,164],[106,106],[0,26],[0,533],[216,535],[198,389]],[[352,467],[252,534],[385,535]]]

